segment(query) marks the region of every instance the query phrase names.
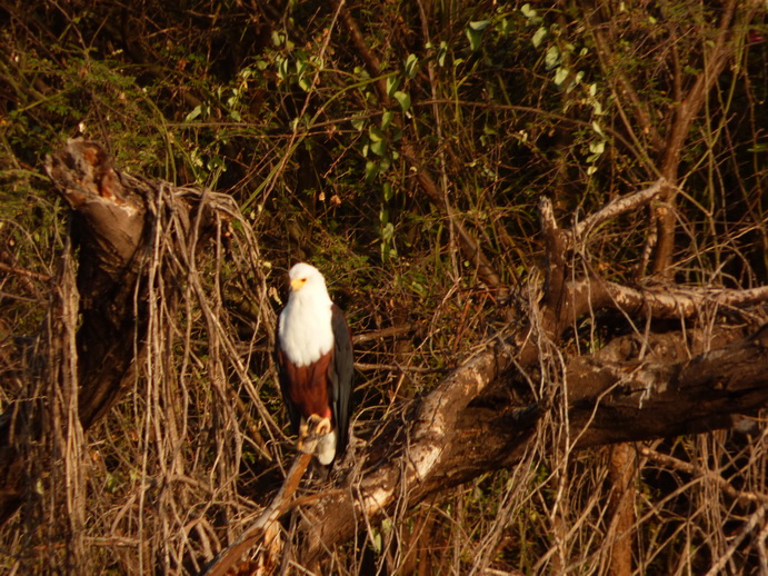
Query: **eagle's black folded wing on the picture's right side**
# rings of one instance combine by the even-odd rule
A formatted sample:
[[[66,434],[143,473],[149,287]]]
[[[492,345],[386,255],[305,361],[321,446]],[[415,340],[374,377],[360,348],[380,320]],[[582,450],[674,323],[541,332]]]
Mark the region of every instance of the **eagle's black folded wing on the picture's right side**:
[[[331,306],[331,329],[333,330],[333,366],[330,367],[331,409],[336,418],[336,455],[340,457],[349,443],[349,417],[352,411],[352,386],[355,358],[352,339],[345,315],[336,305]]]

